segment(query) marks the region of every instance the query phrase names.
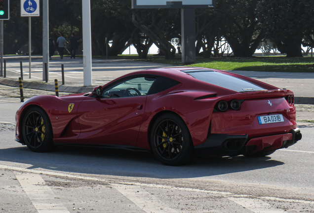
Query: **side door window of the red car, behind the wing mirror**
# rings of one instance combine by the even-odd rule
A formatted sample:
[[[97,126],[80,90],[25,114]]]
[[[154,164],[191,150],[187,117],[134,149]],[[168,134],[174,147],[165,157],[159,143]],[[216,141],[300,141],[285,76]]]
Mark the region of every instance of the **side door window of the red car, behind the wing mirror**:
[[[147,95],[155,80],[155,77],[129,78],[105,89],[102,96],[118,98]]]

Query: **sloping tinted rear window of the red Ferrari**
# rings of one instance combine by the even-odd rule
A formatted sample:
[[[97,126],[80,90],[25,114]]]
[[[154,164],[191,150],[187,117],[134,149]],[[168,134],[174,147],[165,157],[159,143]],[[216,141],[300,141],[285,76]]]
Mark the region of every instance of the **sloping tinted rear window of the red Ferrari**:
[[[216,71],[190,71],[187,73],[198,80],[237,92],[265,90],[265,88],[260,87],[254,83]]]

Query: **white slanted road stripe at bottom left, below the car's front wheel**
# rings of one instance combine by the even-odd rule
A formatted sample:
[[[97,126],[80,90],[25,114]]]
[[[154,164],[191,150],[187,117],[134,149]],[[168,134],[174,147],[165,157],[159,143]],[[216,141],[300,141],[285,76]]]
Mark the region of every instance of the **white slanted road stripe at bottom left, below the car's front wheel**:
[[[45,181],[36,174],[15,175],[38,213],[70,213],[60,202]]]

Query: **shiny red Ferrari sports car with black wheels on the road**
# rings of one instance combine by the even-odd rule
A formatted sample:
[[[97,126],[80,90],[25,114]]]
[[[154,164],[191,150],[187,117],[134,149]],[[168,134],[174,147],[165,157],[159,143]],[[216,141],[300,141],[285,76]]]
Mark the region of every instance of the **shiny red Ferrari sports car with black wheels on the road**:
[[[302,138],[293,92],[227,71],[135,71],[91,93],[36,96],[16,113],[16,141],[152,150],[166,165],[196,153],[266,156]]]

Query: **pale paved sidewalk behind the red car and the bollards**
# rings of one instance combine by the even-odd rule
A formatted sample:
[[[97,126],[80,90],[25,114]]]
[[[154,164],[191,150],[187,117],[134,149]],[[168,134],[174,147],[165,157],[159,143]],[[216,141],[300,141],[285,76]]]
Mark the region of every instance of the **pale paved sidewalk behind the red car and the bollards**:
[[[82,58],[55,56],[49,62],[49,80],[42,80],[42,57],[32,57],[32,73],[29,78],[29,58],[27,56],[5,56],[6,78],[0,77],[0,84],[18,87],[20,75],[20,61],[23,63],[23,87],[54,91],[54,79],[58,79],[59,91],[70,93],[91,92],[97,85],[104,85],[109,81],[132,71],[171,67],[171,65],[157,64],[126,59],[93,59],[92,86],[83,86]],[[64,64],[65,85],[62,84],[61,64]],[[290,89],[295,94],[296,104],[314,105],[314,73],[291,72],[260,72],[260,71],[231,71],[269,83],[279,88]]]

